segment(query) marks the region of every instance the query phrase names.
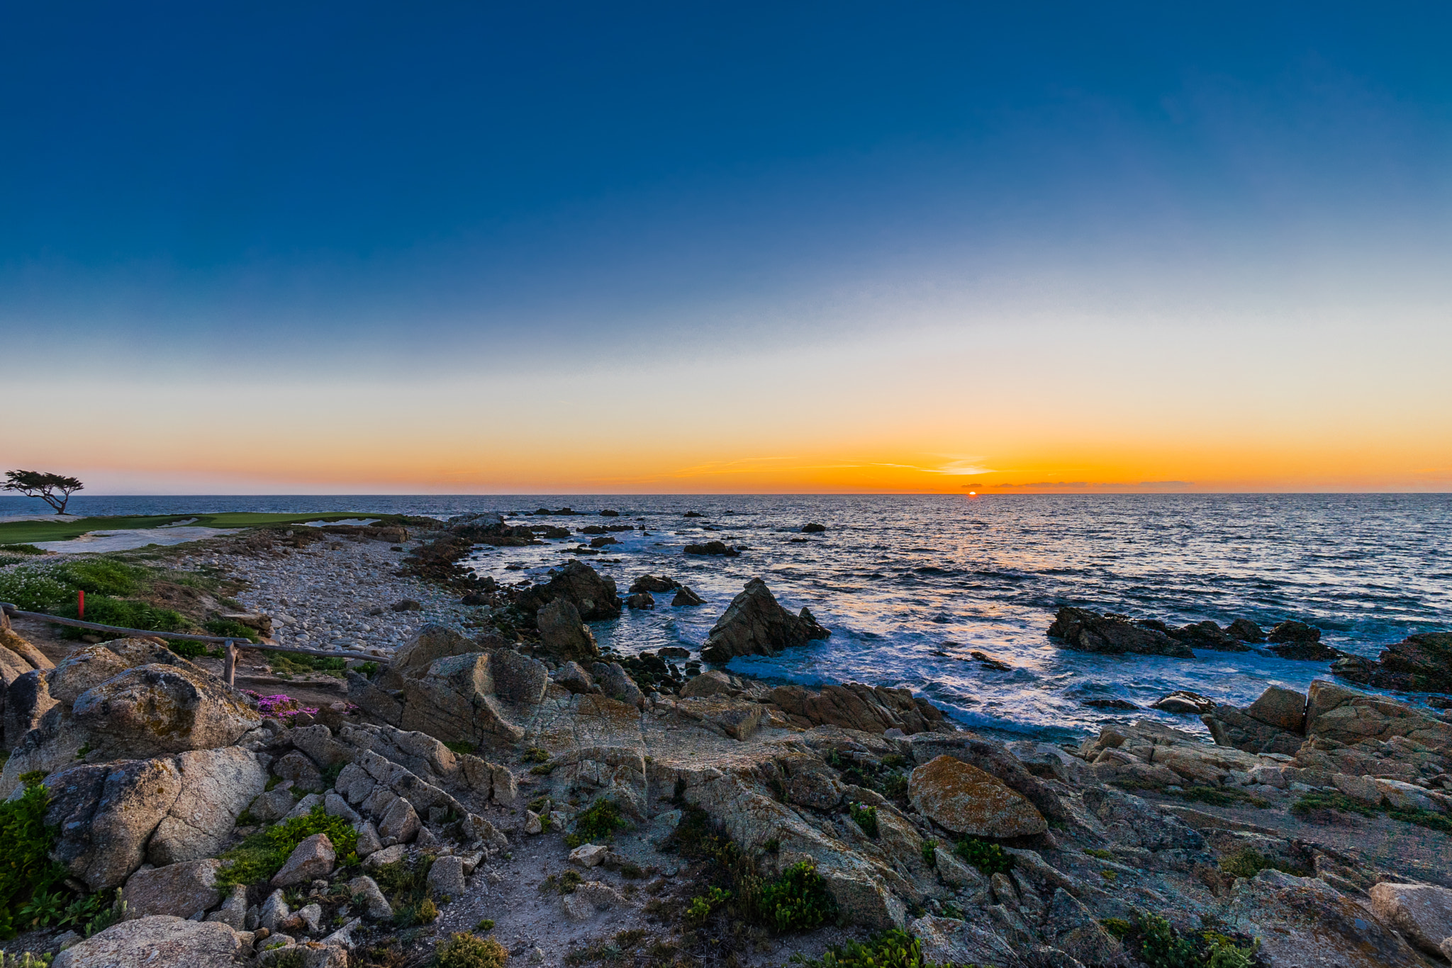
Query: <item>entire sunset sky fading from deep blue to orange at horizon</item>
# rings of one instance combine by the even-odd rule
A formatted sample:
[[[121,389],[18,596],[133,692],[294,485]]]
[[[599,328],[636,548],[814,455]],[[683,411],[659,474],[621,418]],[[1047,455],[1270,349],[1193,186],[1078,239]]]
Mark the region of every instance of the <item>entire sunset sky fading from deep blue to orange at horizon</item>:
[[[0,13],[4,469],[1452,491],[1446,4]]]

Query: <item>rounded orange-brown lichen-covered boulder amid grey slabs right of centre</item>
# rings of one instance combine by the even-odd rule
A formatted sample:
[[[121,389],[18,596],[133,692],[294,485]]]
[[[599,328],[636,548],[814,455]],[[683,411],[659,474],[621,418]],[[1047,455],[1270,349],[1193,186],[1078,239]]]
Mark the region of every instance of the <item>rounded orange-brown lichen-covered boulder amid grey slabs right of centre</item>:
[[[912,771],[908,798],[954,833],[1019,837],[1048,829],[1044,816],[1022,794],[953,756],[938,756]]]

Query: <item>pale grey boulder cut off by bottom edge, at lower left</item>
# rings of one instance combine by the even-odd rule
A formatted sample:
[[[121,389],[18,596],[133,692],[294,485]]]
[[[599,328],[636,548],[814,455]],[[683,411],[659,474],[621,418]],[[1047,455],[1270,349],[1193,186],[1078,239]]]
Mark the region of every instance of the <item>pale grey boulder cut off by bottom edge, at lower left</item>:
[[[121,965],[166,965],[166,968],[234,968],[251,964],[242,939],[221,922],[190,922],[155,914],[112,924],[67,948],[51,968],[121,968]]]

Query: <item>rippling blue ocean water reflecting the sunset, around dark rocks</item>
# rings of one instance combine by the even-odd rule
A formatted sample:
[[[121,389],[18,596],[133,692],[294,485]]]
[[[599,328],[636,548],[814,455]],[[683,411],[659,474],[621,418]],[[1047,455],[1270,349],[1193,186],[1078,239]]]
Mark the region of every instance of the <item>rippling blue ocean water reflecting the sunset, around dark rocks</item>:
[[[32,502],[0,499],[0,515]],[[33,502],[39,504],[39,502]],[[696,649],[732,596],[762,578],[788,608],[807,605],[826,641],[730,668],[772,681],[908,686],[977,729],[1070,739],[1141,715],[1201,729],[1194,717],[1114,713],[1086,700],[1147,705],[1173,689],[1246,704],[1266,685],[1304,689],[1324,662],[1201,652],[1195,659],[1095,656],[1044,634],[1061,605],[1170,624],[1246,617],[1269,628],[1298,618],[1346,652],[1375,656],[1414,631],[1452,630],[1452,495],[890,495],[890,496],[333,496],[76,498],[80,514],[376,511],[447,517],[572,506],[643,524],[585,557],[620,591],[668,575],[706,598],[597,623],[621,652]],[[685,518],[698,511],[703,518]],[[529,518],[534,520],[534,518]],[[803,536],[803,524],[826,525]],[[711,531],[709,528],[719,528]],[[687,543],[743,544],[739,557],[696,557]],[[793,538],[807,538],[793,541]],[[544,578],[574,556],[542,547],[481,549],[472,566],[501,582]],[[607,559],[607,560],[603,560]],[[619,563],[614,562],[619,559]],[[523,565],[520,570],[507,569]],[[968,660],[986,652],[1013,666]],[[947,655],[935,655],[947,653]],[[1414,698],[1414,697],[1413,697]]]

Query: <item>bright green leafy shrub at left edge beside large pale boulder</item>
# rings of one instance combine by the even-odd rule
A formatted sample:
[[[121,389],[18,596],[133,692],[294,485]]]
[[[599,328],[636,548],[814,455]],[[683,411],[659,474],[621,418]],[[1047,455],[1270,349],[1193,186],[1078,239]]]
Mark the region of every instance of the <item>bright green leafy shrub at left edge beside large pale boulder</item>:
[[[52,891],[67,871],[49,859],[55,829],[45,826],[49,792],[22,776],[25,792],[0,803],[0,938],[49,924],[65,910],[65,894]]]

